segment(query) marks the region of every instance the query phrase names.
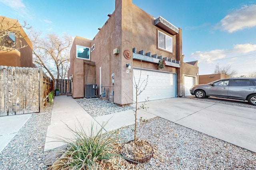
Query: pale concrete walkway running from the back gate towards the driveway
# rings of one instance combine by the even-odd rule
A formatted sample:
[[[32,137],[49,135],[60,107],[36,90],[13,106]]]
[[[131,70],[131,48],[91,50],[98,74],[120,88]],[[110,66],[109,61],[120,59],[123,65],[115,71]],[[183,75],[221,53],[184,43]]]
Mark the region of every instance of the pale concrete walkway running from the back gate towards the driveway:
[[[143,119],[156,117],[156,115],[143,111],[140,111],[138,116],[143,117]],[[132,125],[134,119],[132,110],[103,115],[94,119],[71,96],[55,96],[51,124],[48,126],[44,150],[55,149],[64,144],[56,141],[56,138],[72,138],[72,133],[67,126],[73,130],[76,128],[79,130],[80,127],[83,127],[86,134],[89,134],[92,124],[94,130],[97,130],[101,128],[101,125],[108,122],[104,126],[105,132]]]

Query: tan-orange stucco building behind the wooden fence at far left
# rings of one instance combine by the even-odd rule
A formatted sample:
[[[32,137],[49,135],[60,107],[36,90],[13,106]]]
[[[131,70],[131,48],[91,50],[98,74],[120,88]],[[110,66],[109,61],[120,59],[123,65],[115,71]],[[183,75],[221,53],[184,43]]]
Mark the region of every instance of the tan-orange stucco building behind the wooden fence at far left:
[[[0,65],[3,66],[18,66],[18,67],[35,67],[32,62],[32,43],[28,36],[26,35],[25,31],[21,27],[20,23],[17,20],[12,18],[7,18],[0,16],[0,21],[2,22],[0,25],[0,29],[6,29],[8,25],[14,25],[15,28],[12,28],[10,32],[12,34],[6,35],[5,39],[12,43],[16,43],[16,46],[11,51],[4,51],[0,49]],[[19,32],[20,35],[23,37],[22,39],[17,38],[14,34]],[[2,39],[3,40],[3,39]],[[4,40],[3,40],[4,41]],[[26,45],[24,48],[20,48],[20,41],[22,45]],[[1,42],[3,44],[3,42]],[[8,46],[8,45],[7,45]],[[4,48],[7,48],[4,47]],[[9,47],[12,47],[9,45]],[[15,49],[16,48],[16,49]]]

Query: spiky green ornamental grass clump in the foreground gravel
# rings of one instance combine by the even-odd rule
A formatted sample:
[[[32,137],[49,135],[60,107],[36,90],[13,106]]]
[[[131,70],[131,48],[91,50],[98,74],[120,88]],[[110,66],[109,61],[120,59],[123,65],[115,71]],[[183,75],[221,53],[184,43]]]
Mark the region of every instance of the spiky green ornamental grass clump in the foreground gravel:
[[[105,124],[106,125],[106,124]],[[82,129],[79,123],[80,129]],[[68,126],[67,126],[68,127]],[[74,139],[60,139],[68,145],[67,150],[63,150],[62,156],[57,158],[52,165],[54,170],[96,170],[100,169],[102,161],[106,162],[114,157],[119,156],[114,150],[114,146],[118,137],[113,137],[113,133],[102,133],[104,126],[95,133],[93,124],[90,129],[90,134],[86,135],[84,129],[74,131],[70,127],[68,130],[74,135]],[[57,139],[57,138],[55,138]]]

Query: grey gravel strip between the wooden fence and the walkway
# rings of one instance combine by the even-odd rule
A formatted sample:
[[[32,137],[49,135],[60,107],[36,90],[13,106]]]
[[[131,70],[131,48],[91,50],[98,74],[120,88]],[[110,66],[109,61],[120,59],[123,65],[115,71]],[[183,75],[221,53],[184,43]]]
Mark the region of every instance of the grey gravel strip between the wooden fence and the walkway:
[[[50,125],[52,105],[44,112],[32,114],[12,141],[0,152],[0,170],[43,169],[47,127]]]

